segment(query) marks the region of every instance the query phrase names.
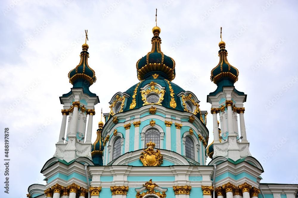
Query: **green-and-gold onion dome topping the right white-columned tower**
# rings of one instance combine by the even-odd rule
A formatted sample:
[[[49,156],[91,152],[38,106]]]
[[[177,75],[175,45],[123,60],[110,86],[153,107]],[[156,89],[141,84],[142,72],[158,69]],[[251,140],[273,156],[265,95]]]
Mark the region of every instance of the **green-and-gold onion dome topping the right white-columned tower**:
[[[221,41],[218,44],[220,50],[218,51],[219,63],[211,71],[211,81],[218,85],[222,80],[229,80],[234,84],[238,80],[238,69],[229,64],[226,56],[228,56],[227,50],[225,50],[226,43]]]

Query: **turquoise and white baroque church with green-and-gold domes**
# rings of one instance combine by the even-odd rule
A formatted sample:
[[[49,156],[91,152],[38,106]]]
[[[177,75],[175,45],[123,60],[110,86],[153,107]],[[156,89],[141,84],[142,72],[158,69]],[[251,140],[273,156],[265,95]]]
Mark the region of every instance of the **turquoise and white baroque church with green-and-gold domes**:
[[[73,87],[60,96],[56,150],[41,169],[46,185],[32,184],[27,197],[297,198],[297,184],[260,183],[264,170],[246,138],[247,95],[234,85],[239,71],[227,60],[225,42],[210,68],[217,88],[207,95],[211,109],[204,110],[195,93],[172,82],[175,61],[162,52],[161,29],[152,33],[152,48],[136,57],[136,84],[115,90],[97,129],[92,123],[100,101],[89,91],[96,76],[89,46],[82,45],[79,64],[69,68]],[[208,113],[213,132],[206,127]]]

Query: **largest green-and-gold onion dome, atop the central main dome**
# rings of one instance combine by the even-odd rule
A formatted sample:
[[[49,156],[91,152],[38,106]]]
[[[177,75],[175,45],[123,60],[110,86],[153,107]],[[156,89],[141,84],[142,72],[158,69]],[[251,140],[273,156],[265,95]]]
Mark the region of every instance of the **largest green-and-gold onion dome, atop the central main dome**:
[[[172,81],[175,78],[175,61],[162,53],[160,44],[162,43],[159,33],[160,28],[155,26],[152,29],[152,48],[146,56],[136,62],[137,76],[139,80],[145,80],[154,74],[162,75],[165,79]]]

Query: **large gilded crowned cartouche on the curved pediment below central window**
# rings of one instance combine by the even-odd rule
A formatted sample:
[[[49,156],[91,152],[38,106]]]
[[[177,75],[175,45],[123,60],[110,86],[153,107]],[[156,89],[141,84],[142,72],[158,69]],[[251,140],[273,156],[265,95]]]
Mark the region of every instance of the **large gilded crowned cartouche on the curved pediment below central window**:
[[[149,142],[146,144],[148,148],[144,149],[140,156],[140,161],[143,163],[143,166],[160,166],[163,163],[163,156],[160,154],[159,150],[154,151],[155,143]]]

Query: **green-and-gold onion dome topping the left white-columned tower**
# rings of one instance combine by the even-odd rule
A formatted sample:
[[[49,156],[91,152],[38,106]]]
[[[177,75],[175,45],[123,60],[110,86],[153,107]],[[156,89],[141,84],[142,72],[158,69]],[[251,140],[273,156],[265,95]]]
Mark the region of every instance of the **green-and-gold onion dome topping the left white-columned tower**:
[[[85,43],[82,45],[83,51],[80,54],[81,60],[80,63],[75,67],[75,69],[72,69],[68,73],[69,82],[75,85],[77,81],[87,81],[89,83],[89,86],[95,83],[96,77],[95,72],[93,69],[91,69],[88,65],[88,58],[89,53],[88,48],[89,46]]]

